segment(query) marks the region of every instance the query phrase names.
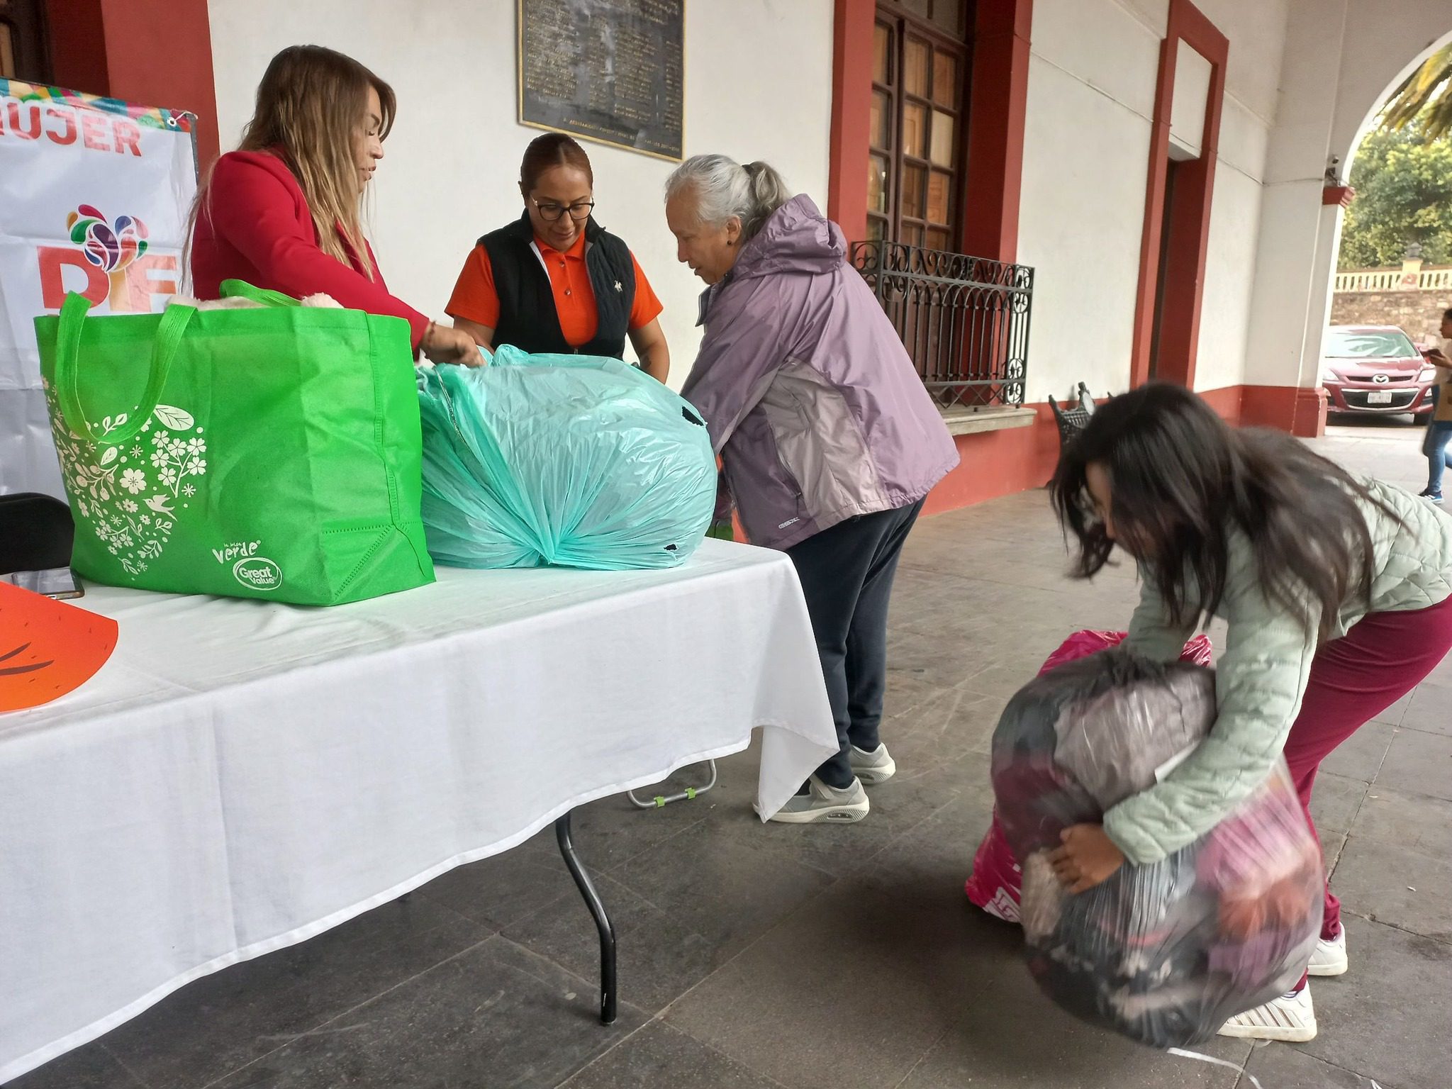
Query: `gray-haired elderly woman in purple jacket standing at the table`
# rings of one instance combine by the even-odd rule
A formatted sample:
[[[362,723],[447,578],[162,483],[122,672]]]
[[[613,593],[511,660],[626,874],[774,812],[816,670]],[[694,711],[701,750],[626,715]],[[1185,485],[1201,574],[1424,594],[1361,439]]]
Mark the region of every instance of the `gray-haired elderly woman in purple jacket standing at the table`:
[[[752,544],[796,565],[841,751],[775,820],[867,816],[896,764],[877,736],[887,600],[953,439],[847,244],[765,163],[697,155],[666,183],[678,260],[709,286],[681,391],[706,418]]]

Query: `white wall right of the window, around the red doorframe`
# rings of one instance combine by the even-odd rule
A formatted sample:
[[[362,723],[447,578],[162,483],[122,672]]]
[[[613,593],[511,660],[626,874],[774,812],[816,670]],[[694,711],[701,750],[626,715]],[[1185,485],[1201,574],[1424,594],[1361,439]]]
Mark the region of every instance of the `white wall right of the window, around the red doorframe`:
[[[1266,144],[1288,0],[1202,0],[1230,39],[1195,385],[1246,370]],[[1028,396],[1128,385],[1154,84],[1167,0],[1034,4],[1019,260],[1037,267]],[[1191,58],[1192,61],[1195,58]],[[1179,81],[1191,94],[1207,68]],[[1202,118],[1204,113],[1201,112]],[[1191,141],[1183,141],[1191,142]],[[1199,132],[1194,132],[1192,147]]]

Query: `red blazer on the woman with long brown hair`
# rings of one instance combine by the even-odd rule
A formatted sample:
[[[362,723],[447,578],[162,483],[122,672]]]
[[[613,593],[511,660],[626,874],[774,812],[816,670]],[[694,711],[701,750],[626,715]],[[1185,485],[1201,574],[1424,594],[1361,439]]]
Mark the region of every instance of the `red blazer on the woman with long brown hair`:
[[[279,166],[286,170],[279,160]],[[331,295],[347,309],[402,318],[417,348],[428,318],[388,293],[317,242],[315,231],[299,219],[296,193],[260,163],[224,155],[212,173],[208,213],[212,229],[237,248],[267,280],[266,285],[303,298]]]

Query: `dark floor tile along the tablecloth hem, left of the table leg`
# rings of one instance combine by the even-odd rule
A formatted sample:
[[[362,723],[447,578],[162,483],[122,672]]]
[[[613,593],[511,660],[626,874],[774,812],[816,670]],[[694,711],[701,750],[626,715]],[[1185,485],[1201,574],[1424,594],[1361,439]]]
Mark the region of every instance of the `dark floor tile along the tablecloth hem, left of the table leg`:
[[[486,937],[415,894],[189,983],[105,1043],[154,1089],[197,1089]]]

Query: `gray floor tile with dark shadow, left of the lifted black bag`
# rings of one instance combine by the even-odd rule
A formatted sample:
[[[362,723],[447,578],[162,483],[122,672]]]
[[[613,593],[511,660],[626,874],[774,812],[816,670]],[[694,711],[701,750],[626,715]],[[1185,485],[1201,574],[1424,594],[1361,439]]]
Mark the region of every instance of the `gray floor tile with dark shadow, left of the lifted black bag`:
[[[957,800],[720,968],[666,1021],[791,1086],[890,1086],[971,1008],[1021,938],[963,896],[986,826]]]

